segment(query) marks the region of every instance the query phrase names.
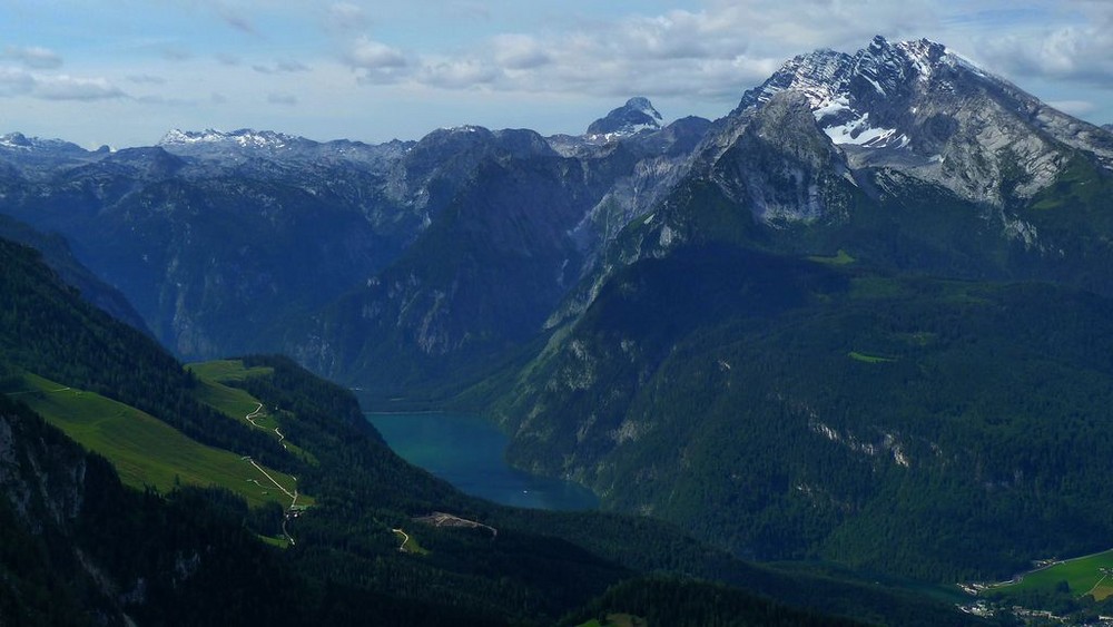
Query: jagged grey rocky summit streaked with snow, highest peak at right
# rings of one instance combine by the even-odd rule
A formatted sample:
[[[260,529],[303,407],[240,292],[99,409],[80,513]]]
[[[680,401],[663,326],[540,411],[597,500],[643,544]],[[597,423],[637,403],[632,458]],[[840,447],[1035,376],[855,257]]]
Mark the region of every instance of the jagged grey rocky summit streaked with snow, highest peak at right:
[[[851,168],[894,167],[975,202],[1031,197],[1074,149],[1113,164],[1113,138],[993,76],[942,43],[876,37],[853,55],[816,50],[748,90],[736,116],[782,91],[806,98]],[[1004,179],[1020,179],[1008,194]]]

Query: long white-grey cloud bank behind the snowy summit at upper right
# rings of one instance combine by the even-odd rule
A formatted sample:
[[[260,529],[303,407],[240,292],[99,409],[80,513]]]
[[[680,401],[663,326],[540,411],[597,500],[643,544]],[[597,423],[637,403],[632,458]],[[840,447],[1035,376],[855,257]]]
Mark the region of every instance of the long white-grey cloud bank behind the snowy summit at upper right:
[[[490,18],[467,2],[452,3],[449,11],[469,7],[476,9],[472,17]],[[1064,16],[1075,19],[1064,22]],[[1050,17],[1060,18],[1055,23],[1061,26],[1034,43],[1032,25],[1051,23]],[[705,0],[690,10],[568,19],[531,33],[503,32],[451,57],[363,37],[351,45],[345,62],[371,84],[731,101],[796,55],[817,48],[853,52],[875,35],[890,40],[929,37],[978,61],[995,61],[991,69],[1006,75],[1113,86],[1113,3],[1091,0],[1037,0],[1024,7],[1009,0],[961,6],[936,0]]]

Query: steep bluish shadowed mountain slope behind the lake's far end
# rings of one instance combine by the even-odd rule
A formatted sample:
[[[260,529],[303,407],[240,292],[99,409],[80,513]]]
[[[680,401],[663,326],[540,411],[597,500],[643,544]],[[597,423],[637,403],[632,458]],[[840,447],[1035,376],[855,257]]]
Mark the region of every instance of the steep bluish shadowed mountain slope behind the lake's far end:
[[[671,184],[703,128],[688,120],[571,156],[546,145],[480,161],[390,267],[314,326],[287,332],[285,350],[380,396],[459,391],[538,336],[617,225]]]

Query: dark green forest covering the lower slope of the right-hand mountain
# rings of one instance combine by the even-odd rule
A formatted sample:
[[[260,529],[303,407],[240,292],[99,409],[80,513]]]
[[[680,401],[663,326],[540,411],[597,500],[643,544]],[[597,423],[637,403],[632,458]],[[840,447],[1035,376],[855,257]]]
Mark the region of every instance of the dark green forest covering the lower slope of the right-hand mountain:
[[[512,458],[755,559],[953,582],[1107,548],[1110,301],[808,265],[627,268],[499,406],[544,425]]]

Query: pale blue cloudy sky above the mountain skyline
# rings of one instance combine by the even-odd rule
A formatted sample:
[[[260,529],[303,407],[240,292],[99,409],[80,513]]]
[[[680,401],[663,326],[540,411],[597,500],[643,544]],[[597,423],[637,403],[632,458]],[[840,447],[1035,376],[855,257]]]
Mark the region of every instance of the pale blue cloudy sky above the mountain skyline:
[[[719,117],[786,59],[926,37],[1113,123],[1105,0],[0,0],[0,133],[581,133],[631,96]]]

